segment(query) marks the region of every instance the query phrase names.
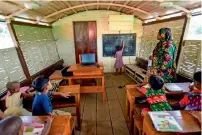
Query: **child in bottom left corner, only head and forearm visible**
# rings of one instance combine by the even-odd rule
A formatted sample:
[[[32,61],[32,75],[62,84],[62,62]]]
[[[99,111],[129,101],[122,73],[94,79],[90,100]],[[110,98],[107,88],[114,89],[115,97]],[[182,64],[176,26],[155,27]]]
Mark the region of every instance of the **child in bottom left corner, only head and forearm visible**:
[[[53,117],[49,116],[41,135],[48,135]],[[23,135],[24,125],[20,117],[9,116],[0,121],[1,135]]]

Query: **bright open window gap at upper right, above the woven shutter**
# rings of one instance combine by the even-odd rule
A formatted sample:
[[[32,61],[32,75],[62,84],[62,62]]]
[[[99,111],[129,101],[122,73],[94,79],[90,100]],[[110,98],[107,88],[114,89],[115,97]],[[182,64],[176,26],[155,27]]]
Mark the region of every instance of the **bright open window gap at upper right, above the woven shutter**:
[[[202,15],[192,16],[190,20],[187,40],[201,40],[202,39]]]

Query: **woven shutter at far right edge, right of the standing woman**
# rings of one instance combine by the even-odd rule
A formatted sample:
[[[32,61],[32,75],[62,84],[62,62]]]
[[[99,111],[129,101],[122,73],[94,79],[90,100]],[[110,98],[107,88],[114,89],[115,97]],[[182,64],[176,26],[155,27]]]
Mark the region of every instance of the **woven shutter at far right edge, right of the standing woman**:
[[[179,65],[179,73],[193,77],[193,74],[200,70],[201,67],[201,41],[186,40],[181,54],[181,62]]]

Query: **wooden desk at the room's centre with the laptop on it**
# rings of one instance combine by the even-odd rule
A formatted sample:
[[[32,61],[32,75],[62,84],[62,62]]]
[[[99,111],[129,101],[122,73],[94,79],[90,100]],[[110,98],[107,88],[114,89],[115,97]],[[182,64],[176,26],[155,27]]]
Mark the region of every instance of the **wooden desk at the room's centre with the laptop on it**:
[[[55,71],[49,78],[50,80],[68,80],[69,85],[73,85],[73,80],[83,79],[101,79],[102,84],[100,86],[81,86],[80,93],[102,93],[102,100],[105,101],[105,81],[103,73],[103,65],[97,66],[81,66],[79,64],[72,65],[68,71],[73,72],[73,76],[64,77],[60,70]]]

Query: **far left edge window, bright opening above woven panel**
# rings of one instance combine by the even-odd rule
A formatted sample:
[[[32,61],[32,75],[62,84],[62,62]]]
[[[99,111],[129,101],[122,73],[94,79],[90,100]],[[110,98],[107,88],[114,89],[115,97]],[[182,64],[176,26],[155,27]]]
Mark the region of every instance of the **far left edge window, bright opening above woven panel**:
[[[0,93],[6,89],[7,82],[25,79],[26,77],[7,25],[4,22],[0,22]]]

